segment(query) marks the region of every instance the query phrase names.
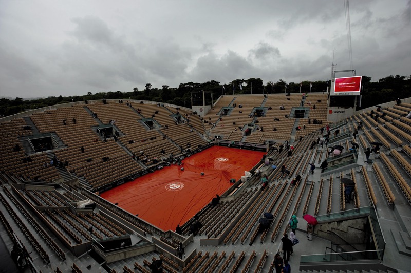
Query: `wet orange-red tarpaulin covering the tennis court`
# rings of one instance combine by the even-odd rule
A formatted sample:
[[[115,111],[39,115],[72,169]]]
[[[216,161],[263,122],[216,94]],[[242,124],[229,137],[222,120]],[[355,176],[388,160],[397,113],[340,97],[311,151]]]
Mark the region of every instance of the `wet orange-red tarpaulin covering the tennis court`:
[[[240,179],[263,154],[213,146],[185,158],[182,166],[166,166],[106,191],[101,197],[163,230],[175,230],[216,194],[227,191],[232,186],[230,179]]]

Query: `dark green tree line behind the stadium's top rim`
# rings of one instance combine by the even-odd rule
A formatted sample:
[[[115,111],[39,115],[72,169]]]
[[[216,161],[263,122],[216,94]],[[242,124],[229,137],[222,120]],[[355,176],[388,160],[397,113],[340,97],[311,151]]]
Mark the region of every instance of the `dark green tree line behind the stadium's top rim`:
[[[377,82],[371,82],[371,77],[363,76],[362,78],[362,104],[361,108],[375,106],[387,101],[393,101],[397,98],[411,97],[411,75],[400,76],[390,75],[382,78]],[[191,108],[191,101],[193,97],[194,104],[202,104],[202,91],[212,93],[215,101],[223,94],[278,94],[278,93],[308,93],[311,92],[325,92],[327,86],[330,87],[330,81],[302,81],[287,83],[285,80],[278,80],[277,82],[269,81],[264,85],[260,78],[249,79],[235,79],[229,83],[220,83],[215,80],[198,83],[187,82],[180,83],[176,88],[163,85],[161,88],[153,87],[151,83],[145,85],[144,90],[138,90],[137,87],[132,91],[108,91],[108,92],[88,92],[82,96],[50,96],[47,98],[39,98],[32,100],[24,100],[23,98],[16,98],[10,100],[7,98],[0,99],[0,115],[10,116],[23,111],[31,109],[38,109],[55,104],[76,102],[84,100],[96,99],[136,99],[136,100],[152,100],[162,103],[171,103],[178,106]],[[210,98],[208,98],[210,103]]]

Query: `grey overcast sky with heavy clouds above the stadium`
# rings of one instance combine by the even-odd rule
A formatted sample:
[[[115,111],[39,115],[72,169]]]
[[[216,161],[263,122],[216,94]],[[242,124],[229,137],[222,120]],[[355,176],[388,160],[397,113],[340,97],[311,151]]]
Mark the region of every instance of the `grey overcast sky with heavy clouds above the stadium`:
[[[357,75],[411,75],[411,1],[349,7]],[[12,98],[327,80],[333,49],[335,69],[351,69],[343,0],[0,0],[0,96]]]

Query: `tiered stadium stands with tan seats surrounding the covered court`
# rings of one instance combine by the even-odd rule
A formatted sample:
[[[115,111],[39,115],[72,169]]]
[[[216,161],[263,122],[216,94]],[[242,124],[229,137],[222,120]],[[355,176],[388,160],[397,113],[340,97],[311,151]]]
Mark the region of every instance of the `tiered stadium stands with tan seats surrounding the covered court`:
[[[327,132],[320,129],[329,123],[327,94],[228,95],[201,116],[170,104],[124,102],[67,103],[0,120],[0,236],[9,251],[24,247],[33,271],[150,272],[162,259],[169,272],[269,272],[293,214],[300,222],[293,271],[409,271],[411,119],[405,115],[411,98],[330,123],[325,145]],[[269,145],[286,140],[290,153]],[[237,142],[263,147],[270,162],[258,162],[251,178],[202,208],[181,235],[95,194],[173,157]],[[342,152],[330,153],[337,145]],[[366,162],[368,147],[374,151]],[[322,162],[328,166],[321,169]],[[316,165],[314,174],[309,163]],[[256,170],[268,175],[264,191]],[[296,175],[302,179],[292,186]],[[355,183],[351,202],[341,178]],[[87,199],[97,207],[75,207]],[[265,212],[274,220],[261,230]],[[305,214],[319,221],[312,242],[305,240]],[[196,221],[202,227],[194,236]]]

